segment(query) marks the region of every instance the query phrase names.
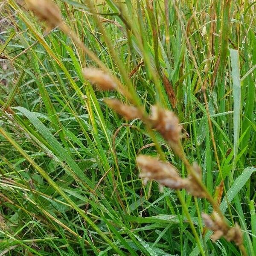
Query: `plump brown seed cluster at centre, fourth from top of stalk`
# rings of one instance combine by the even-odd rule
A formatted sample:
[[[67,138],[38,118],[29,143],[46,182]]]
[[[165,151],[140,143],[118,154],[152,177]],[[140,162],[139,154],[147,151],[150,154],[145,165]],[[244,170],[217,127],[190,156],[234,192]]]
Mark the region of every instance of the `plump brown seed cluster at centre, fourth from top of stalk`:
[[[153,127],[162,134],[169,143],[178,143],[181,137],[182,127],[179,125],[179,120],[172,111],[152,106],[151,121]]]

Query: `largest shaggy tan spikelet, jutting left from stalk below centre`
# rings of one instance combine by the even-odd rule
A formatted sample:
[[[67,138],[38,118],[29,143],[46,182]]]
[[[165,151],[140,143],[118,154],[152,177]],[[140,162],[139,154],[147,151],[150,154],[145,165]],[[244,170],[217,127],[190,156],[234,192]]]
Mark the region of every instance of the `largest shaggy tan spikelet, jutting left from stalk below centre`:
[[[161,162],[155,157],[139,155],[137,164],[141,169],[140,177],[143,178],[144,183],[148,180],[156,180],[171,189],[181,189],[187,185],[187,181],[179,176],[171,164]]]

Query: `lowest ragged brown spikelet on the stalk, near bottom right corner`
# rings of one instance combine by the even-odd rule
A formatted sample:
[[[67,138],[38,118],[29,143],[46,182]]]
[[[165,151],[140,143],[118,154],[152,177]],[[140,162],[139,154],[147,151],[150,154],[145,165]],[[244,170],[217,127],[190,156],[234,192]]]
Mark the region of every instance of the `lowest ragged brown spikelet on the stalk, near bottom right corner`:
[[[235,227],[229,227],[217,212],[212,212],[212,216],[202,213],[202,218],[205,226],[213,231],[211,236],[213,241],[223,236],[227,241],[234,241],[237,246],[243,243],[243,234],[237,223]]]

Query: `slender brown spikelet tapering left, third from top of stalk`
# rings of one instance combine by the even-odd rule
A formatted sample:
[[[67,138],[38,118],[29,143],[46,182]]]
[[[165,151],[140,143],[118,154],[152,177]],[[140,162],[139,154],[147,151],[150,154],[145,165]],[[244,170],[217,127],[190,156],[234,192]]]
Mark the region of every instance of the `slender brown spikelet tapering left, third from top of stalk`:
[[[142,117],[141,112],[136,107],[123,104],[118,99],[105,99],[104,102],[127,120]]]

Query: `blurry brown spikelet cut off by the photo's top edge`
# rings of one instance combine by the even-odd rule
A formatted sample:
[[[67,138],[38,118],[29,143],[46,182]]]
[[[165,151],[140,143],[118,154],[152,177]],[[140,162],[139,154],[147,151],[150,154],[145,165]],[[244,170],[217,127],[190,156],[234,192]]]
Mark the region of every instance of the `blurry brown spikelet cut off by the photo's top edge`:
[[[38,19],[45,21],[50,28],[61,25],[61,11],[52,0],[25,0],[25,3]]]

